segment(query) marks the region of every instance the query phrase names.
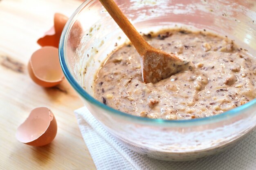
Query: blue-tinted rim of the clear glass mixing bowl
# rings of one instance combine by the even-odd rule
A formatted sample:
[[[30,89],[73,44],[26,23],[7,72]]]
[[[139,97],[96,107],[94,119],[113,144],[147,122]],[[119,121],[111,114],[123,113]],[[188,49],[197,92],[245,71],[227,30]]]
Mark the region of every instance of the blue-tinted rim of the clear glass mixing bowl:
[[[167,125],[170,124],[182,124],[182,125],[195,125],[195,123],[197,125],[199,124],[204,124],[204,123],[212,123],[212,122],[216,122],[216,121],[221,121],[221,120],[225,120],[225,119],[229,119],[230,117],[234,117],[237,115],[241,115],[243,114],[245,109],[249,109],[250,107],[256,105],[256,99],[253,99],[250,102],[247,102],[246,104],[243,104],[242,106],[236,107],[234,109],[231,109],[229,111],[226,111],[225,113],[221,113],[219,115],[213,115],[210,117],[203,117],[203,118],[197,118],[197,119],[189,119],[189,120],[164,120],[164,119],[150,119],[150,118],[146,118],[146,117],[137,117],[134,115],[130,115],[128,113],[124,113],[121,112],[119,110],[115,110],[114,108],[111,108],[99,101],[97,101],[96,99],[94,99],[94,97],[92,97],[91,95],[89,95],[77,82],[76,79],[72,76],[72,74],[70,73],[68,66],[66,64],[66,60],[65,60],[65,45],[67,44],[67,33],[69,33],[68,31],[70,31],[70,26],[72,26],[74,24],[74,22],[76,21],[75,18],[79,15],[79,13],[84,9],[84,7],[90,3],[90,0],[85,0],[85,2],[83,2],[77,9],[76,11],[74,11],[74,13],[71,15],[71,17],[69,18],[69,20],[67,21],[67,23],[65,24],[65,27],[62,31],[61,34],[61,38],[60,38],[60,42],[59,42],[59,60],[61,63],[61,68],[63,70],[63,73],[67,79],[67,81],[71,84],[71,86],[75,89],[75,91],[77,93],[79,93],[79,95],[81,95],[81,97],[83,97],[85,100],[87,100],[88,102],[90,102],[91,104],[93,104],[94,106],[97,106],[99,108],[102,108],[103,110],[108,111],[108,113],[112,113],[114,115],[119,115],[119,116],[123,116],[126,118],[130,118],[131,120],[134,121],[140,121],[141,123],[153,123],[155,125]]]

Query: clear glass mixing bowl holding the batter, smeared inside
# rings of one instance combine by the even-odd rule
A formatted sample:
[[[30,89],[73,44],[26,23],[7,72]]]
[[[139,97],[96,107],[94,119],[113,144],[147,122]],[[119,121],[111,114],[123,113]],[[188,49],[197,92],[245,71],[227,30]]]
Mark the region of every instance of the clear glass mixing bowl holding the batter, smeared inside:
[[[116,2],[141,33],[180,26],[207,29],[256,54],[255,1]],[[156,159],[187,161],[222,151],[256,126],[256,99],[220,115],[192,120],[136,117],[98,102],[93,97],[94,75],[108,54],[126,42],[99,1],[86,0],[68,20],[59,45],[67,80],[92,115],[126,147]]]

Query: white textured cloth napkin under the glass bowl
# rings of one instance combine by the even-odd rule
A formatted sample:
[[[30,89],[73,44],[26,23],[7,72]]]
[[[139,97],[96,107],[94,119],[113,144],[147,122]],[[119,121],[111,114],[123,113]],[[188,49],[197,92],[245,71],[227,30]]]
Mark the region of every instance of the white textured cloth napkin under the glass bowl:
[[[151,159],[115,140],[86,107],[75,110],[83,139],[97,170],[256,170],[256,128],[236,146],[197,161]]]

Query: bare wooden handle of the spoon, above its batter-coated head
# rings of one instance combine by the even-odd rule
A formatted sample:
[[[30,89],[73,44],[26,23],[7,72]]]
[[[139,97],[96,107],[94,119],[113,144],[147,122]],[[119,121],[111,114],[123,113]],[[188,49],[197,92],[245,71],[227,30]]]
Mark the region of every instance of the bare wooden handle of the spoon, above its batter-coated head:
[[[135,46],[137,52],[142,56],[147,49],[150,49],[150,45],[144,40],[144,38],[138,33],[134,26],[130,23],[128,18],[119,9],[117,4],[113,0],[99,0],[105,7],[108,13],[112,16],[119,27],[124,31],[126,36]]]

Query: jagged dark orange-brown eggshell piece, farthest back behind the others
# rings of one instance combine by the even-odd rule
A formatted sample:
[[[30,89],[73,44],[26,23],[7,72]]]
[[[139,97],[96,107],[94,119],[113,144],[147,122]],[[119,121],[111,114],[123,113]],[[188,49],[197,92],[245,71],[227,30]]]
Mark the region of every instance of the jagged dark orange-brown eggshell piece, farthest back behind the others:
[[[67,22],[68,18],[61,14],[54,14],[54,27],[45,33],[43,38],[40,38],[37,43],[40,46],[55,46],[58,48],[58,43],[61,38],[62,30]]]

